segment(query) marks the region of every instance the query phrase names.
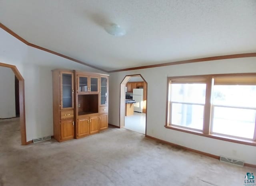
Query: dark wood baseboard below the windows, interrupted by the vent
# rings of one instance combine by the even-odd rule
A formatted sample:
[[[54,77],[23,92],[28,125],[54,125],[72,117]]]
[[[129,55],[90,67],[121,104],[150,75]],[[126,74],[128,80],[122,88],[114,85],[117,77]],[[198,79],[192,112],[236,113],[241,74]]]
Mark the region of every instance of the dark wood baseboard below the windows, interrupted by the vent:
[[[193,153],[198,153],[200,155],[208,156],[208,157],[211,157],[211,158],[214,158],[214,159],[220,159],[220,156],[217,156],[217,155],[213,155],[213,154],[210,154],[210,153],[205,153],[205,152],[202,152],[202,151],[198,151],[198,150],[195,150],[195,149],[184,147],[182,145],[178,145],[178,144],[175,144],[175,143],[164,141],[162,139],[158,139],[158,138],[155,138],[155,137],[152,137],[152,136],[149,136],[149,135],[146,135],[146,137],[148,137],[150,139],[153,139],[153,140],[156,140],[156,141],[159,141],[161,143],[165,143],[165,144],[170,145],[170,146],[172,146],[174,148],[184,149],[186,151],[190,151],[190,152],[193,152]],[[250,164],[250,163],[244,163],[244,166],[249,166],[249,167],[256,168],[255,164]]]

